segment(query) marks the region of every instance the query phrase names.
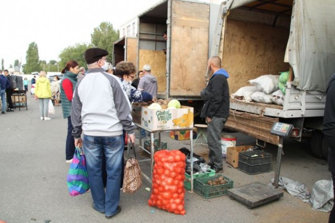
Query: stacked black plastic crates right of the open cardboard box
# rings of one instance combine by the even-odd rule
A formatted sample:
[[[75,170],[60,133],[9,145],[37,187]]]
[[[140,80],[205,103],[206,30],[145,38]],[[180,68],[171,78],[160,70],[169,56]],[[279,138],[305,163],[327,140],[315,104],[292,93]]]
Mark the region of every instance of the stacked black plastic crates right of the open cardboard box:
[[[253,157],[254,155],[257,155]],[[240,152],[238,155],[238,169],[253,175],[269,172],[272,155],[262,150]]]

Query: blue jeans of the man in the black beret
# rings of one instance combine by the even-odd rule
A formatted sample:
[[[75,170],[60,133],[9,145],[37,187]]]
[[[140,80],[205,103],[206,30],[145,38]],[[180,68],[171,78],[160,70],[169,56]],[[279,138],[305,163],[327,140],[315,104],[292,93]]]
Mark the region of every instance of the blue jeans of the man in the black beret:
[[[114,215],[120,201],[123,137],[122,135],[113,137],[84,135],[83,147],[94,207],[98,211],[104,211],[106,216]],[[103,153],[107,170],[106,192],[101,177]]]

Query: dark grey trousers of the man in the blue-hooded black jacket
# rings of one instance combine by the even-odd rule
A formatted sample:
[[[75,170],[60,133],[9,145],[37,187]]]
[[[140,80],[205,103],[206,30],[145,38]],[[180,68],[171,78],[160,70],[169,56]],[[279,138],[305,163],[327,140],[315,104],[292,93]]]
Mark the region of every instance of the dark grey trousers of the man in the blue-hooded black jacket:
[[[209,162],[216,168],[222,168],[221,131],[226,124],[227,118],[213,117],[207,123],[207,143],[209,147]]]

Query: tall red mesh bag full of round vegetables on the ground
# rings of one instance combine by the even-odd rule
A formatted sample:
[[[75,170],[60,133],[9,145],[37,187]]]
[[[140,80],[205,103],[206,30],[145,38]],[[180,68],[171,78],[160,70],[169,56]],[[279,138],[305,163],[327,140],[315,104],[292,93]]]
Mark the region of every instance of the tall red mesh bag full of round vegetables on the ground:
[[[154,154],[152,190],[148,205],[184,215],[185,155],[179,150]]]

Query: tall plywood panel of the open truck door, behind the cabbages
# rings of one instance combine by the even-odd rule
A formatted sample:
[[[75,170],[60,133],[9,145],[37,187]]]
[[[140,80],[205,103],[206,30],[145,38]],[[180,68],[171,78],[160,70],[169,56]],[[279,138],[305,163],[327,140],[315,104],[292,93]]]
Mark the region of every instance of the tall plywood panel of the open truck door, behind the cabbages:
[[[200,96],[205,87],[208,32],[208,4],[172,2],[171,96]]]

